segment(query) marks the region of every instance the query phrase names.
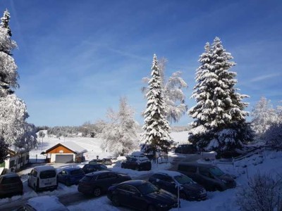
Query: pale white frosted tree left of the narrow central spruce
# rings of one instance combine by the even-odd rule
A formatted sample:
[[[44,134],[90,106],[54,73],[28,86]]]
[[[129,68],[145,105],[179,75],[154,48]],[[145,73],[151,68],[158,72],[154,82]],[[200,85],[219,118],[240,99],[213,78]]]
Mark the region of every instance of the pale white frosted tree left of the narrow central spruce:
[[[104,127],[99,138],[104,139],[102,149],[123,155],[138,148],[137,125],[134,120],[134,111],[128,106],[126,98],[120,99],[118,113],[109,109],[107,116],[110,120]]]

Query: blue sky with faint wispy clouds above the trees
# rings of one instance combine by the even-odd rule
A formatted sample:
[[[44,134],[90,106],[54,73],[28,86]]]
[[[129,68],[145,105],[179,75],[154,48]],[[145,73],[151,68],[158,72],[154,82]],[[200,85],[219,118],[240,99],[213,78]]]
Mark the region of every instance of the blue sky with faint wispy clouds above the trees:
[[[1,0],[6,8],[18,44],[16,94],[37,126],[105,120],[120,96],[142,124],[140,88],[154,53],[168,59],[166,76],[183,72],[188,107],[195,106],[197,60],[216,36],[237,63],[247,110],[261,96],[282,100],[282,1]]]

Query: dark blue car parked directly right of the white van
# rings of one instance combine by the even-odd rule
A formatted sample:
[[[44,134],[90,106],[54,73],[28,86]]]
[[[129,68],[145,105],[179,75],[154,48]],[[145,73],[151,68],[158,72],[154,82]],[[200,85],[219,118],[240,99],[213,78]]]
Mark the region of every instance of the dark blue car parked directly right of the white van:
[[[63,169],[58,174],[58,181],[66,184],[66,186],[71,186],[73,184],[78,184],[78,181],[84,177],[84,172],[82,169],[75,167],[75,168],[67,168]]]

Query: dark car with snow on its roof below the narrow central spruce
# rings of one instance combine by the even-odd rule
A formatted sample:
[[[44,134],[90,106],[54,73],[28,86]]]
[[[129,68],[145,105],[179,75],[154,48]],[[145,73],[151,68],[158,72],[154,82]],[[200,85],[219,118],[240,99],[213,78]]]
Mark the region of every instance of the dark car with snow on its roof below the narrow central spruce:
[[[121,167],[137,171],[149,171],[152,168],[152,163],[144,153],[134,152],[127,160],[121,162]]]

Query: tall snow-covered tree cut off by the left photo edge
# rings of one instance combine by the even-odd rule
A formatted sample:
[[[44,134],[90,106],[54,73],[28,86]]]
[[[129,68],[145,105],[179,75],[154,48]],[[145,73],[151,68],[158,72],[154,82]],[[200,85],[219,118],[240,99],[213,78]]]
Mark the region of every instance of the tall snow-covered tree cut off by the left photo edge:
[[[21,148],[20,143],[23,137],[27,136],[26,132],[29,132],[25,122],[28,114],[25,103],[13,94],[13,89],[19,87],[18,67],[11,56],[16,42],[11,40],[9,19],[10,15],[5,11],[0,26],[0,137],[9,146]],[[36,135],[32,136],[36,140]]]

